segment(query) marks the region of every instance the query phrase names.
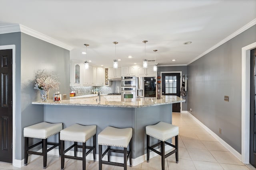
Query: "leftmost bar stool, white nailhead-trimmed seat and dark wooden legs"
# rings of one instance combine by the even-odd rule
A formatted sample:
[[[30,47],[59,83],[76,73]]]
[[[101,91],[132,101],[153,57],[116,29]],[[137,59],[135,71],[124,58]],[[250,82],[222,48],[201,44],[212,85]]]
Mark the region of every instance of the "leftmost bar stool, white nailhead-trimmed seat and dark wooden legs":
[[[44,168],[46,168],[47,152],[59,146],[59,153],[60,153],[60,134],[59,134],[58,143],[47,142],[47,138],[57,133],[60,133],[60,130],[62,129],[63,129],[62,123],[48,123],[48,122],[41,122],[35,125],[25,127],[23,129],[23,136],[25,137],[24,165],[26,166],[28,164],[28,154],[36,154],[36,155],[43,156]],[[28,146],[29,138],[38,138],[38,139],[42,139],[42,141],[34,145]],[[29,151],[30,149],[40,144],[42,144],[42,152]],[[53,146],[47,149],[47,145],[53,145]]]

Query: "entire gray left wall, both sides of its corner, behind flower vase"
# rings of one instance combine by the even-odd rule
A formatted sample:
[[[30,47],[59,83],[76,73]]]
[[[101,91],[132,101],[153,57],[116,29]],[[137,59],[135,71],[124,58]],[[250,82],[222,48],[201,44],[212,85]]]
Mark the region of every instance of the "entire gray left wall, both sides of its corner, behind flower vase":
[[[33,89],[35,73],[38,69],[48,69],[58,74],[60,93],[69,94],[70,53],[66,49],[20,32],[0,34],[0,45],[16,45],[15,159],[22,160],[23,128],[44,121],[43,106],[31,104],[32,101],[40,100],[38,90]],[[50,97],[53,93],[54,91],[50,91]]]

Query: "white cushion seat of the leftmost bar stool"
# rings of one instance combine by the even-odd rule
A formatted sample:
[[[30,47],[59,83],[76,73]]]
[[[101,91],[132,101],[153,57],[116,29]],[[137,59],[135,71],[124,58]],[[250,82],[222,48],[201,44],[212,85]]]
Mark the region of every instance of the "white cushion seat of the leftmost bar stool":
[[[31,138],[46,139],[63,129],[62,123],[41,122],[35,125],[24,127],[23,136]]]

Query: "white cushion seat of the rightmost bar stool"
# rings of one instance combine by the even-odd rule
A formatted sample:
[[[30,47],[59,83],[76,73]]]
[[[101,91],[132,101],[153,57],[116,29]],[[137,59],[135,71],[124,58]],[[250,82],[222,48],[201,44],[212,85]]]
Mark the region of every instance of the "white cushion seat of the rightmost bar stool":
[[[179,135],[179,127],[160,121],[156,125],[146,126],[146,134],[160,141],[166,141]]]

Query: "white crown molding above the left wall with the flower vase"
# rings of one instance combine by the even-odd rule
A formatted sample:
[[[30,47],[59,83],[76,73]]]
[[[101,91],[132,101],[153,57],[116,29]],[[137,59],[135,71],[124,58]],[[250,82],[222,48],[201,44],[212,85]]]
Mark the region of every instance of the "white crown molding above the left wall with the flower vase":
[[[44,35],[43,33],[40,33],[38,31],[35,31],[34,29],[30,29],[24,25],[21,24],[14,24],[14,25],[6,25],[6,26],[2,26],[0,27],[0,34],[4,34],[4,33],[14,33],[14,32],[22,32],[25,34],[28,34],[32,37],[36,37],[38,39],[41,39],[43,41],[46,41],[48,43],[51,43],[53,45],[56,45],[58,47],[62,47],[64,49],[67,50],[72,50],[73,47],[70,45],[67,45],[65,43],[62,43],[56,39],[53,39],[47,35]]]

